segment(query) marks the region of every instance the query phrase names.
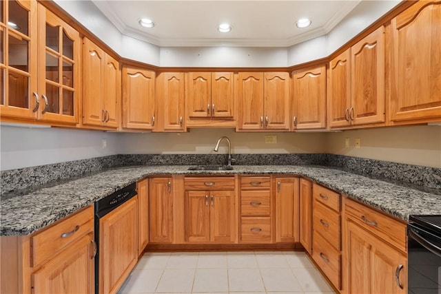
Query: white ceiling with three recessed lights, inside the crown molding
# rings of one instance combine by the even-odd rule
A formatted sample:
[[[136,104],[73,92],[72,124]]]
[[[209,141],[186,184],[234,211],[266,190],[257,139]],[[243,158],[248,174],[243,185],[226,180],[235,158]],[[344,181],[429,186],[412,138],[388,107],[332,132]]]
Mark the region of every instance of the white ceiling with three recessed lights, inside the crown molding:
[[[92,0],[122,34],[161,47],[289,47],[327,34],[360,1]],[[302,17],[312,25],[296,28]],[[141,18],[154,28],[141,27]],[[232,31],[218,32],[225,22]]]

